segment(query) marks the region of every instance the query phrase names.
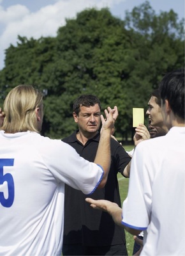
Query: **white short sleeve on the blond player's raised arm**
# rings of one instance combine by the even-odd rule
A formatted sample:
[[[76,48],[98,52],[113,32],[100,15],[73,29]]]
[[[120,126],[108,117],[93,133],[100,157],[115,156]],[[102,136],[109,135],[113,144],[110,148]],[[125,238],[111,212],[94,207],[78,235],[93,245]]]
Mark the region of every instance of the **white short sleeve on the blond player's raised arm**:
[[[57,182],[91,194],[100,184],[103,170],[98,164],[80,157],[76,150],[61,140],[41,143],[40,154]]]

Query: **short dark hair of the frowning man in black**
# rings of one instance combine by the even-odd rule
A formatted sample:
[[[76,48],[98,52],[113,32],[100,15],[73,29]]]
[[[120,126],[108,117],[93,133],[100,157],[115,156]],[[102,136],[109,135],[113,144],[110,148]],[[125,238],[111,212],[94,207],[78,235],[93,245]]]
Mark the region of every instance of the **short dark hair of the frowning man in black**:
[[[80,107],[90,107],[98,104],[101,110],[101,103],[98,97],[94,95],[81,95],[78,97],[73,104],[73,111],[78,115],[80,112]]]

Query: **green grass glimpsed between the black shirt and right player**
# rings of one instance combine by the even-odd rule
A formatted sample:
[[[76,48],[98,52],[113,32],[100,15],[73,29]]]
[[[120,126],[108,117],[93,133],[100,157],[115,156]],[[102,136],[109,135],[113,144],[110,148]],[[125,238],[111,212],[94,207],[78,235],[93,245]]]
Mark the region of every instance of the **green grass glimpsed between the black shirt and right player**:
[[[133,147],[134,147],[133,145],[124,146],[124,149],[126,151],[131,151]],[[122,202],[127,196],[129,179],[122,177],[120,173],[118,174],[117,178],[119,181],[119,191],[120,191],[121,202]],[[133,236],[129,234],[127,231],[125,231],[125,233],[126,233],[126,248],[128,250],[128,255],[131,256],[133,253],[133,243],[134,243]]]

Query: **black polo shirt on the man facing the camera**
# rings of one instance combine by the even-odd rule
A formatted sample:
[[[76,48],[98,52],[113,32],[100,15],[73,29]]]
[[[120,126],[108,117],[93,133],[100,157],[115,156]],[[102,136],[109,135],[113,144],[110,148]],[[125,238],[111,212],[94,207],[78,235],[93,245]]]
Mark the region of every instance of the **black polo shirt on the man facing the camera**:
[[[63,141],[75,148],[84,159],[93,162],[100,141],[100,133],[83,145],[77,140],[77,132],[73,132]],[[111,166],[107,184],[105,188],[96,189],[91,198],[110,200],[121,207],[117,173],[122,173],[130,160],[131,157],[124,148],[117,141],[111,139]],[[108,246],[125,243],[124,228],[115,225],[107,212],[92,209],[85,202],[86,197],[81,191],[65,186],[63,243],[81,243],[84,246]]]

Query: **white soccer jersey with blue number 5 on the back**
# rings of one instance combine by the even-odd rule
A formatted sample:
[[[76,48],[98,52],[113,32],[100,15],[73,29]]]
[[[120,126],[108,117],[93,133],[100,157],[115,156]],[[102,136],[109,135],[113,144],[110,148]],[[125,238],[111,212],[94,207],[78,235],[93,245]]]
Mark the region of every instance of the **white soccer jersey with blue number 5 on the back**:
[[[0,131],[0,255],[61,255],[64,183],[90,194],[102,175],[61,140]]]

